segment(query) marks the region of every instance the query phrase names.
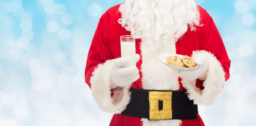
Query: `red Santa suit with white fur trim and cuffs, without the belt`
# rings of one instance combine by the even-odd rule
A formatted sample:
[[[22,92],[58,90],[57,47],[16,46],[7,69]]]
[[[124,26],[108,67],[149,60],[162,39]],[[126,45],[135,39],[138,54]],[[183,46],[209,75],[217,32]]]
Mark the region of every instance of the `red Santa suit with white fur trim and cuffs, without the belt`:
[[[85,81],[92,90],[92,96],[99,108],[114,113],[110,126],[204,126],[199,114],[193,120],[148,120],[124,116],[121,113],[130,100],[130,88],[151,90],[187,90],[188,98],[198,105],[212,105],[221,93],[229,78],[230,60],[224,43],[211,16],[198,6],[200,24],[196,31],[188,30],[175,44],[163,45],[151,50],[150,45],[141,39],[136,40],[136,54],[141,56],[136,66],[139,80],[131,86],[110,90],[110,68],[114,60],[121,57],[120,36],[130,35],[119,23],[120,5],[107,10],[100,18],[85,69]],[[201,50],[201,51],[196,51]],[[205,81],[188,81],[174,74],[172,69],[163,65],[157,58],[161,54],[203,55],[207,59],[208,71]],[[203,90],[202,90],[202,87]],[[115,99],[119,99],[116,102]]]

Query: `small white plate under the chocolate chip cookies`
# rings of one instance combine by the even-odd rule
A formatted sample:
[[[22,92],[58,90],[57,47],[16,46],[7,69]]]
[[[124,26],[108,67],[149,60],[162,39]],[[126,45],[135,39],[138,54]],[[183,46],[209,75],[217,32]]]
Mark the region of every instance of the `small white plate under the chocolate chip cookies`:
[[[170,65],[167,63],[166,61],[166,58],[169,57],[169,56],[179,56],[179,57],[183,57],[183,55],[179,55],[179,54],[162,54],[162,55],[159,55],[158,59],[163,63],[165,64],[166,66],[172,68],[172,69],[176,69],[176,70],[191,70],[191,69],[195,69],[198,67],[198,65],[196,65],[196,67],[193,67],[193,68],[188,68],[188,67],[177,67],[177,66],[173,66],[173,65]]]

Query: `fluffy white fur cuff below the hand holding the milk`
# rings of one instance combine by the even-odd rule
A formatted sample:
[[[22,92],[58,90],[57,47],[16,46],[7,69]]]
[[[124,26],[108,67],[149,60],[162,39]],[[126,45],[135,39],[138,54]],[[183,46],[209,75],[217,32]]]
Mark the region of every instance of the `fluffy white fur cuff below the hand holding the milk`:
[[[118,87],[111,97],[110,85],[110,69],[114,64],[114,60],[107,60],[103,64],[99,64],[92,72],[91,89],[92,96],[96,104],[102,111],[120,114],[130,102],[130,85]],[[117,102],[118,101],[118,102]]]

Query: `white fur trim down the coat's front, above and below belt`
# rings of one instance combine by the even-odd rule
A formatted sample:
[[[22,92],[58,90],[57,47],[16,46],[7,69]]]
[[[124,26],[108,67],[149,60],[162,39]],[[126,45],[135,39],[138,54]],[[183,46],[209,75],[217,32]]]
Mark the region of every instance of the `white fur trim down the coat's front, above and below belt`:
[[[150,38],[148,38],[150,39]],[[179,90],[178,74],[162,64],[158,56],[165,53],[176,54],[174,38],[156,50],[150,49],[151,44],[143,39],[140,45],[142,56],[142,87],[151,90]],[[143,126],[180,126],[181,120],[148,120],[142,118]]]

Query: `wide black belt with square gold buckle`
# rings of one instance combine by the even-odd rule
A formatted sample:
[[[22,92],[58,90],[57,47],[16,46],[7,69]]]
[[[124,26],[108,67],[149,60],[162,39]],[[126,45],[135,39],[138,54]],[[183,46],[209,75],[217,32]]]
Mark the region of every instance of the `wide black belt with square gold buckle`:
[[[130,89],[131,100],[121,113],[126,116],[164,119],[196,119],[198,106],[189,100],[186,91]]]

